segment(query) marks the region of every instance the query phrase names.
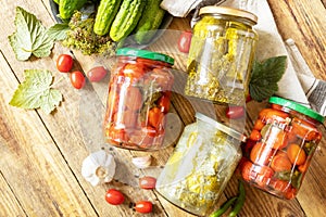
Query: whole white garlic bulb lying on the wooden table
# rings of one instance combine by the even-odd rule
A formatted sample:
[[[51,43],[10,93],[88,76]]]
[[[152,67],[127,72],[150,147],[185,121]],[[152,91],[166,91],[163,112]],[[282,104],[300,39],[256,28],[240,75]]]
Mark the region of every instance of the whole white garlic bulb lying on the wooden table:
[[[92,186],[110,182],[115,174],[114,157],[101,150],[83,161],[82,176]]]

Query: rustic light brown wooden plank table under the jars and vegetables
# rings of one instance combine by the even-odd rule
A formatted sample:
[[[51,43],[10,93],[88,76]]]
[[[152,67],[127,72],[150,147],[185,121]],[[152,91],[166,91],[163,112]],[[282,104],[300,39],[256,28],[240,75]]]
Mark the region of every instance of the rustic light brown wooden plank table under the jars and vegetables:
[[[326,80],[326,2],[325,0],[268,0],[277,26],[284,39],[293,38],[314,75]],[[64,101],[51,115],[39,110],[24,111],[9,105],[9,101],[23,80],[26,68],[55,69],[57,56],[67,49],[57,44],[49,58],[16,61],[8,36],[14,31],[15,7],[34,13],[45,26],[54,24],[48,0],[4,0],[0,9],[0,216],[141,216],[129,207],[130,202],[150,200],[154,210],[147,216],[191,216],[162,199],[155,191],[145,191],[120,182],[92,187],[80,174],[83,159],[91,151],[80,126],[80,100],[87,94],[97,94],[98,87],[78,91],[72,88],[68,78],[58,85]],[[172,29],[189,28],[189,20],[174,18]],[[95,56],[75,52],[82,68],[87,72],[96,62]],[[58,74],[57,74],[58,75]],[[82,94],[83,93],[83,94]],[[87,97],[90,97],[87,95]],[[193,122],[191,111],[173,97],[185,125]],[[264,103],[248,103],[247,132],[253,125],[256,112]],[[90,129],[91,130],[91,129]],[[93,132],[98,133],[98,132]],[[239,216],[326,216],[326,130],[317,149],[303,186],[294,200],[284,201],[246,186],[247,197]],[[164,165],[173,146],[151,153],[154,165]],[[130,161],[143,153],[117,151]],[[135,177],[134,177],[135,178]],[[120,206],[104,201],[105,191],[121,189],[126,202]],[[224,195],[237,194],[237,179],[233,177]],[[218,205],[217,204],[217,205]]]

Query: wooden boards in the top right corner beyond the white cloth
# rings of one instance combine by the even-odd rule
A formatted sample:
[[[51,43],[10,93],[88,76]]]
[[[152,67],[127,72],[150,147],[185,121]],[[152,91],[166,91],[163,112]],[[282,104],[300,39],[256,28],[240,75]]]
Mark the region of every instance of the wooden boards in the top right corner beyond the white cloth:
[[[313,74],[326,80],[325,2],[268,0],[279,34],[292,38]],[[286,18],[285,18],[286,17]]]

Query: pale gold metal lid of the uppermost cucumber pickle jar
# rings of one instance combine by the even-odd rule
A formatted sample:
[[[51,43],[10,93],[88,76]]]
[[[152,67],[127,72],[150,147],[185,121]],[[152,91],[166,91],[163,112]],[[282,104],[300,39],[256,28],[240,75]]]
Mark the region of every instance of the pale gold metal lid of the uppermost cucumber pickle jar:
[[[201,14],[223,14],[230,15],[250,20],[256,24],[258,16],[253,13],[240,9],[233,9],[227,7],[203,7],[199,11],[199,15]]]

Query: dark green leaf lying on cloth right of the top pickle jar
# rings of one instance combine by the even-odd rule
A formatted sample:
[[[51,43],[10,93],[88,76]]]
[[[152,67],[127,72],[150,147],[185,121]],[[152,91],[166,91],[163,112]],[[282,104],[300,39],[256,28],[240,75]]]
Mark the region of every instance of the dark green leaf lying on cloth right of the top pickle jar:
[[[277,82],[286,71],[287,56],[275,56],[262,63],[254,62],[249,82],[250,95],[255,101],[272,97],[277,90]]]

